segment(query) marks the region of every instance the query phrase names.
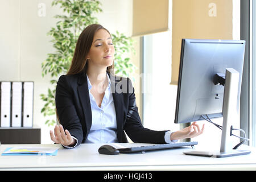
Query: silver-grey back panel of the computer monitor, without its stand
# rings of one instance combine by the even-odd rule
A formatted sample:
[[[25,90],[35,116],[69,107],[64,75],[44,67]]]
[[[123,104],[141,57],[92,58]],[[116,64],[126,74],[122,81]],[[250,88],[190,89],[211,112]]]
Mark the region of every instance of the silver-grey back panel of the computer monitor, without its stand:
[[[199,121],[201,115],[222,117],[224,86],[215,85],[214,75],[224,75],[226,68],[240,73],[237,109],[242,81],[244,40],[183,39],[175,123]]]

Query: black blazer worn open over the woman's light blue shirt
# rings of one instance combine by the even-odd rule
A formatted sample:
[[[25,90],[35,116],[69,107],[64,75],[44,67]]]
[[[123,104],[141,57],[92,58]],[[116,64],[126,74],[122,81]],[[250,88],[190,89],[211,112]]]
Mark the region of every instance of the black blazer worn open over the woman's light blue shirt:
[[[127,142],[125,131],[133,142],[166,143],[164,141],[166,131],[149,130],[142,126],[135,102],[134,88],[129,78],[108,74],[117,116],[118,142]],[[92,110],[86,74],[82,72],[77,75],[60,76],[55,101],[61,125],[78,139],[77,146],[84,143],[92,126]]]

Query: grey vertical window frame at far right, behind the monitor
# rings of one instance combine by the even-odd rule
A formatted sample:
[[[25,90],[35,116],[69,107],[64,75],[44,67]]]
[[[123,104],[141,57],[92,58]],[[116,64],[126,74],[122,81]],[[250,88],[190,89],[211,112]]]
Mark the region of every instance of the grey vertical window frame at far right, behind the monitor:
[[[241,108],[240,108],[240,127],[246,133],[246,137],[251,140],[246,142],[250,146],[255,146],[255,112],[253,108],[255,107],[255,99],[253,102],[253,88],[255,90],[255,85],[253,80],[255,80],[255,68],[253,69],[253,59],[255,51],[255,26],[253,24],[253,14],[255,16],[255,2],[252,0],[241,0],[241,40],[246,41],[245,48],[245,60],[243,63],[243,77],[242,77],[242,89],[241,89]],[[253,33],[254,31],[254,33]],[[255,62],[255,61],[254,61]],[[253,77],[254,73],[254,77]]]

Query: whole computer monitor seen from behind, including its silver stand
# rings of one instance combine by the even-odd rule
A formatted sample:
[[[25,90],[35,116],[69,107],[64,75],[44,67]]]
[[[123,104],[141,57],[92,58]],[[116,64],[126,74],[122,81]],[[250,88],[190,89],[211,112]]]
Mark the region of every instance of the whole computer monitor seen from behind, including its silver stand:
[[[230,147],[232,122],[238,121],[245,54],[244,40],[183,39],[175,123],[223,117],[221,148],[217,157],[249,154]],[[232,132],[231,132],[232,133]],[[212,156],[212,152],[184,152]]]

